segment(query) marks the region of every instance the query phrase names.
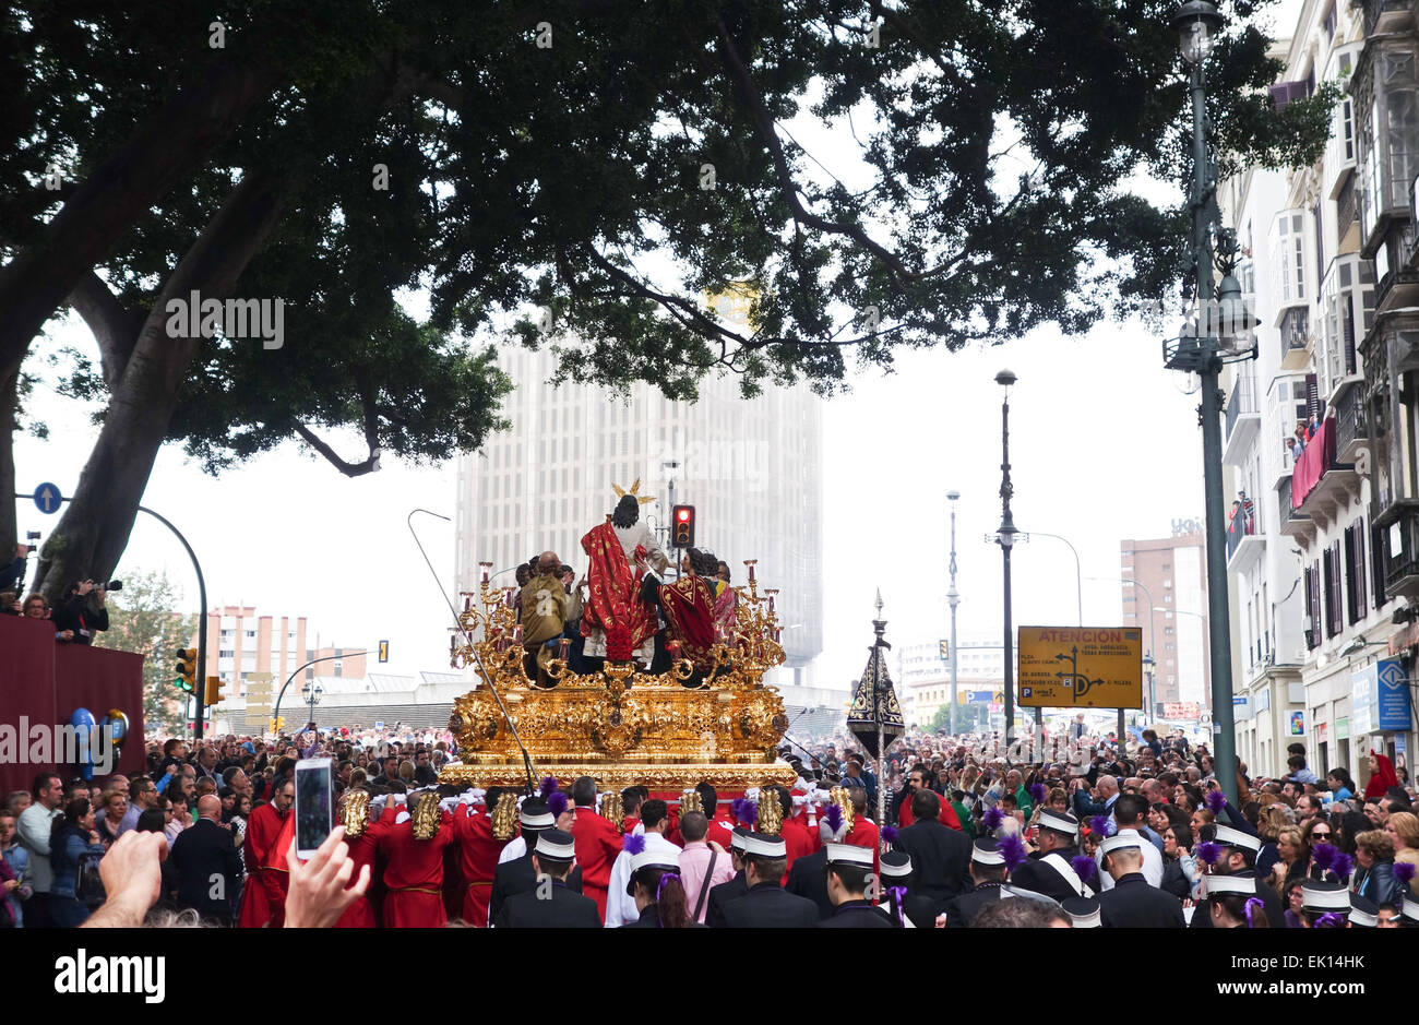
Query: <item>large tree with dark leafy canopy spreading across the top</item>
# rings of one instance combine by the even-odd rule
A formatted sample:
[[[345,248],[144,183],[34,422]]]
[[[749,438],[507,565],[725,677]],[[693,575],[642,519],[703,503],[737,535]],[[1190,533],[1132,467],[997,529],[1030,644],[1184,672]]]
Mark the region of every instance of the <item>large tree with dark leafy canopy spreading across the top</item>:
[[[297,437],[346,474],[475,447],[507,389],[488,339],[674,398],[712,372],[832,390],[850,352],[1164,297],[1181,207],[1121,182],[1186,169],[1172,7],[10,0],[0,160],[33,187],[0,194],[0,433],[64,305],[99,353],[71,386],[106,403],[45,589],[116,564],[163,442],[219,471]],[[1218,143],[1311,159],[1332,92],[1274,112],[1264,48],[1240,21],[1219,45]],[[799,146],[797,115],[834,152]],[[284,348],[175,335],[165,304],[194,288],[282,298]],[[728,288],[748,327],[707,308]]]

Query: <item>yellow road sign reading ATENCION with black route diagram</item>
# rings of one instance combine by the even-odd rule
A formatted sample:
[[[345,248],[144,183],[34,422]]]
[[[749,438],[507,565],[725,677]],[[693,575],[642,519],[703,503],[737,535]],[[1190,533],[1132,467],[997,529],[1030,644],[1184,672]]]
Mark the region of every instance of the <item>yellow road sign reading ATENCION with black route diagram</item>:
[[[1023,708],[1142,708],[1142,630],[1128,626],[1022,626]]]

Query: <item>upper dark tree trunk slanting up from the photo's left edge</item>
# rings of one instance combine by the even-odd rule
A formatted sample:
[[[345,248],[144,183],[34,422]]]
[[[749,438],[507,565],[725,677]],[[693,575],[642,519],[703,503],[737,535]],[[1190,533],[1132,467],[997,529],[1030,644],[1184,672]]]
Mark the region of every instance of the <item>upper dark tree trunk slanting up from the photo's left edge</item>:
[[[228,61],[183,89],[94,169],[40,240],[0,268],[0,379],[20,369],[44,322],[114,243],[271,94],[281,70]]]

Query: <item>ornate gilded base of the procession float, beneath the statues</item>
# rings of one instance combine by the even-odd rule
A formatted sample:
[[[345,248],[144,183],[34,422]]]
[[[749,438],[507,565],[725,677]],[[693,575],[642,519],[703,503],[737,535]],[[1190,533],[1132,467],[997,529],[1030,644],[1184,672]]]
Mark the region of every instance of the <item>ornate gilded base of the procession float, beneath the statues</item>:
[[[675,789],[701,779],[725,789],[792,784],[793,771],[775,761],[789,727],[783,698],[762,681],[765,670],[783,663],[772,592],[759,596],[752,575],[749,588],[736,592],[736,629],[701,656],[700,673],[690,659],[675,659],[666,673],[607,662],[597,673],[576,674],[568,669],[563,640],[562,657],[545,659],[534,680],[511,591],[484,583],[482,609],[467,608],[460,616],[467,633],[453,646],[453,664],[475,664],[482,686],[454,701],[448,728],[458,738],[461,764],[446,768],[438,781],[524,785],[521,740],[536,771],[561,784],[582,775],[617,789]],[[548,683],[555,686],[538,686]]]

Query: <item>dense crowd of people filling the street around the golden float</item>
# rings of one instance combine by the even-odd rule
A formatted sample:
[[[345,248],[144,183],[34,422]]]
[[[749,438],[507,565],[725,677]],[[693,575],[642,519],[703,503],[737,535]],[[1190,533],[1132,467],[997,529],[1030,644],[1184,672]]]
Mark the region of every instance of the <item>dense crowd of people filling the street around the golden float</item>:
[[[745,794],[464,789],[437,782],[451,735],[393,733],[169,740],[142,772],[41,772],[0,808],[0,926],[1419,926],[1415,795],[1379,754],[1362,786],[1304,751],[1281,778],[1243,767],[1237,805],[1205,747],[1152,731],[1040,737],[1013,762],[993,737],[908,734],[883,779],[839,735],[786,745],[796,781]],[[332,760],[338,825],[307,862],[309,757]]]

